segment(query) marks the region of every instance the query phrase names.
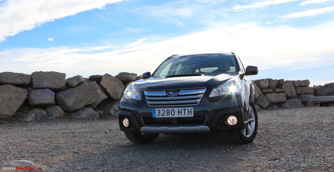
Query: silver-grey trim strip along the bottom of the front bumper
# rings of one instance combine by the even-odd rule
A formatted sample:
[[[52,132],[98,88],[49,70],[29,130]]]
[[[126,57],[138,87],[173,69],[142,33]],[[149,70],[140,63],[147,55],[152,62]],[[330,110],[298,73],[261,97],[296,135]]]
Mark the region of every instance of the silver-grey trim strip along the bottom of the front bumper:
[[[209,133],[210,128],[206,125],[199,126],[144,126],[140,128],[141,133],[164,133],[164,134],[180,134],[180,133]]]

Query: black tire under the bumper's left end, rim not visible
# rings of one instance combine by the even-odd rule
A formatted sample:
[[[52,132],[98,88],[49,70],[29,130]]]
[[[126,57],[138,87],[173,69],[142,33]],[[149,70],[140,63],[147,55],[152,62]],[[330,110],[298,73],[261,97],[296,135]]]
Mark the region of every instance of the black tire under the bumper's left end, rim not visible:
[[[132,133],[129,131],[124,131],[125,136],[136,144],[146,144],[154,142],[158,137],[159,134],[142,134],[142,133]]]

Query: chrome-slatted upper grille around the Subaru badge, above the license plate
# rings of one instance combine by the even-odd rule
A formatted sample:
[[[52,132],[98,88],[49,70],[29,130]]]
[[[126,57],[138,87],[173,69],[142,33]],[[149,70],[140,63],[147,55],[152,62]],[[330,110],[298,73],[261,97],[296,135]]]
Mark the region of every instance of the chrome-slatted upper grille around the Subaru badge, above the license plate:
[[[179,94],[168,96],[168,91],[175,90]],[[206,88],[145,90],[146,102],[149,106],[186,106],[197,105],[201,101]]]

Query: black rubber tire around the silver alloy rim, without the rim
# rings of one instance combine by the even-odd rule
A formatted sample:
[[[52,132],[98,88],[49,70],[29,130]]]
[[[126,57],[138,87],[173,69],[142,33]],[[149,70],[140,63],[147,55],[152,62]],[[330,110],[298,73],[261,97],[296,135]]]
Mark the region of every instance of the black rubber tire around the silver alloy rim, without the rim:
[[[234,144],[247,144],[251,143],[256,136],[256,133],[258,131],[258,113],[256,111],[254,103],[249,100],[249,105],[252,107],[254,111],[254,116],[255,116],[255,127],[253,134],[249,137],[246,137],[243,133],[242,130],[237,130],[237,131],[229,131],[229,132],[224,132],[223,135],[231,142]]]

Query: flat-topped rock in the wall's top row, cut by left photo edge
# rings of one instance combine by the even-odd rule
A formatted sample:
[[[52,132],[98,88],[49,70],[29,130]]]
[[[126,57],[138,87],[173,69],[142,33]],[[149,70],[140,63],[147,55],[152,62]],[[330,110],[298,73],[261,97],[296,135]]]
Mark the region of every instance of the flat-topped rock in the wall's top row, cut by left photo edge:
[[[10,84],[16,86],[26,86],[30,82],[31,82],[31,75],[13,73],[13,72],[0,73],[0,85]]]

